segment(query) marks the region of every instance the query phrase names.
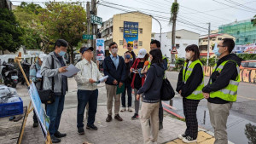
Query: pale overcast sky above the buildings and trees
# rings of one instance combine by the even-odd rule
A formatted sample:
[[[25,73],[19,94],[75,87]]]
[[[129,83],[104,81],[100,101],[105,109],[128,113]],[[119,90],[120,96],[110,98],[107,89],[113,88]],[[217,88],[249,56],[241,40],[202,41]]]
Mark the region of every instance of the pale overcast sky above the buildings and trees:
[[[38,3],[41,6],[44,6],[42,2],[49,2],[48,0],[23,1]],[[55,1],[60,2],[60,0]],[[75,0],[71,1],[76,2]],[[112,18],[113,14],[141,11],[144,14],[153,15],[155,19],[159,20],[162,26],[162,32],[172,31],[169,19],[174,0],[98,1],[97,15],[102,17],[103,21]],[[12,2],[15,5],[19,5],[21,0],[13,0]],[[64,2],[70,2],[70,0]],[[86,1],[80,2],[83,2],[82,6],[85,8]],[[216,30],[218,26],[235,22],[235,20],[249,20],[256,15],[256,0],[177,0],[177,3],[179,3],[177,30],[186,29],[201,35],[207,34],[207,23],[211,23],[211,30]],[[160,33],[159,23],[156,20],[152,21],[152,32]]]

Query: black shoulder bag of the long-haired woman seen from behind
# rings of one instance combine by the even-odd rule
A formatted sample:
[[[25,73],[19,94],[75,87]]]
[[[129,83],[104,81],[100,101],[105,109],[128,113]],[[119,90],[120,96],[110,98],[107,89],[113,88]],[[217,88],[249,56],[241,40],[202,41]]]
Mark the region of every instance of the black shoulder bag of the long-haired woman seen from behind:
[[[154,65],[152,65],[154,66]],[[154,66],[154,68],[156,68]],[[170,101],[175,95],[174,89],[172,88],[172,84],[169,82],[168,78],[165,76],[163,78],[162,86],[160,89],[160,100],[161,101]]]

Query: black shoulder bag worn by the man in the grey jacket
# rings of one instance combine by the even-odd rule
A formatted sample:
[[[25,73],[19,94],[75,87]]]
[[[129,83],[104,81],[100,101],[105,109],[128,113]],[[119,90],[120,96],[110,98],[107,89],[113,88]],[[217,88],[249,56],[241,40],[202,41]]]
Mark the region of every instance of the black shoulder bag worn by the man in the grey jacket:
[[[52,57],[51,69],[54,69],[54,59]],[[55,93],[54,93],[54,77],[52,77],[51,81],[51,89],[43,90],[43,82],[44,79],[41,81],[41,88],[38,90],[38,95],[45,104],[51,104],[55,102]]]

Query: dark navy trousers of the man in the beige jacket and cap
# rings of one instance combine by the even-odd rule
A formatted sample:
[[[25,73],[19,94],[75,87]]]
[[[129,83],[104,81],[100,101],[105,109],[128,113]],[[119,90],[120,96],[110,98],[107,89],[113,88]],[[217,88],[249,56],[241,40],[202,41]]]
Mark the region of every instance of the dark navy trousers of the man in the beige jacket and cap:
[[[95,115],[97,110],[98,101],[98,89],[96,90],[78,90],[78,115],[77,115],[77,127],[83,128],[84,109],[88,102],[89,112],[87,125],[93,125],[95,122]]]

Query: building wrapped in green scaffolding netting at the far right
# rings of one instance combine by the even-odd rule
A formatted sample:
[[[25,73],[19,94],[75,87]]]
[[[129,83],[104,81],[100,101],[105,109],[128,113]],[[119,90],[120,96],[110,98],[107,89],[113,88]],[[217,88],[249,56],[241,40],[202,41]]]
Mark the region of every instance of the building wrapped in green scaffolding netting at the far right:
[[[236,45],[256,43],[256,26],[252,20],[236,21],[218,27],[219,33],[227,33],[236,37]]]

